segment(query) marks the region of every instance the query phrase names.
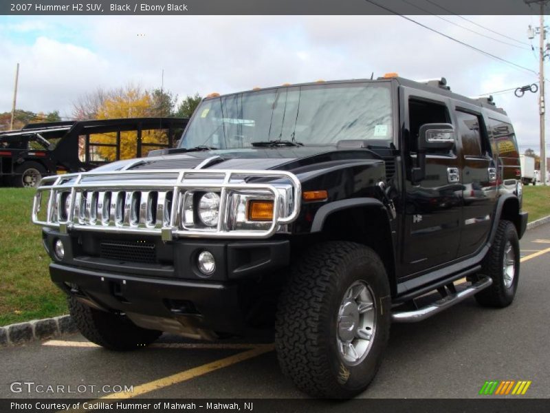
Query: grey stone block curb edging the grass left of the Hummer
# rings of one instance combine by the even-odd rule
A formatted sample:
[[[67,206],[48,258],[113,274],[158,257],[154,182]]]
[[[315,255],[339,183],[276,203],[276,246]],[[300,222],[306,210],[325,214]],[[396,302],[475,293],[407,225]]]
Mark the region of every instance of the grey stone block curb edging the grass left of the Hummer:
[[[76,326],[70,315],[10,324],[9,326],[0,327],[0,347],[17,346],[35,340],[51,339],[76,331]]]

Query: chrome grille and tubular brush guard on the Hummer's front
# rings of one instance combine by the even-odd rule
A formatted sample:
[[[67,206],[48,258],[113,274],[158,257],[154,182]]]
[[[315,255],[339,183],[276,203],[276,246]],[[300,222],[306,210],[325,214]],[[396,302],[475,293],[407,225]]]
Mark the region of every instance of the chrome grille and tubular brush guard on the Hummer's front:
[[[241,177],[239,182],[232,178]],[[290,182],[292,199],[281,193],[281,185],[243,183],[245,178],[274,178]],[[116,179],[113,181],[112,179]],[[187,191],[217,191],[220,195],[219,222],[212,229],[188,229],[181,223],[181,209]],[[258,193],[274,201],[273,219],[268,229],[232,230],[228,226],[228,200],[234,191]],[[43,193],[49,193],[46,218],[39,213]],[[154,211],[151,199],[155,195]],[[171,193],[171,198],[170,195]],[[70,194],[66,215],[63,195]],[[135,195],[139,194],[139,195]],[[32,222],[59,229],[109,233],[162,235],[162,240],[174,237],[267,238],[280,226],[294,222],[300,213],[302,189],[300,180],[287,171],[247,171],[219,169],[156,169],[148,171],[106,171],[70,173],[41,180],[34,195]],[[145,198],[145,199],[144,199]],[[66,199],[66,198],[65,198]],[[135,203],[135,205],[134,205]],[[135,207],[135,210],[133,209]],[[287,211],[283,211],[286,209]],[[124,211],[120,213],[119,211]],[[137,216],[132,215],[136,211]],[[149,213],[149,211],[152,211]],[[283,214],[285,214],[283,216]],[[124,217],[124,218],[123,218]]]

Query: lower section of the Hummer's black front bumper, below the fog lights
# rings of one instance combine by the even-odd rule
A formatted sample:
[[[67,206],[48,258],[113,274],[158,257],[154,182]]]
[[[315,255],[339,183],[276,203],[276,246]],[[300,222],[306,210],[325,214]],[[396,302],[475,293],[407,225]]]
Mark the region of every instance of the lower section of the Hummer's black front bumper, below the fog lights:
[[[244,328],[236,284],[98,273],[55,263],[50,264],[50,276],[84,304],[124,313],[144,328],[193,338],[211,338],[212,332],[239,334]]]

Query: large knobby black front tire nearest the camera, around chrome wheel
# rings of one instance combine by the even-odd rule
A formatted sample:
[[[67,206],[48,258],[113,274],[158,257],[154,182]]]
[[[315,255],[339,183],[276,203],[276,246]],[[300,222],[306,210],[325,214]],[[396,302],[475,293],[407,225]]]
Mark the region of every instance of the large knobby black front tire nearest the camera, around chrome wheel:
[[[338,352],[338,308],[347,288],[361,280],[373,292],[376,330],[366,357],[348,366]],[[318,244],[292,266],[279,299],[275,326],[281,370],[311,396],[350,398],[375,376],[390,332],[391,299],[380,257],[353,242]]]

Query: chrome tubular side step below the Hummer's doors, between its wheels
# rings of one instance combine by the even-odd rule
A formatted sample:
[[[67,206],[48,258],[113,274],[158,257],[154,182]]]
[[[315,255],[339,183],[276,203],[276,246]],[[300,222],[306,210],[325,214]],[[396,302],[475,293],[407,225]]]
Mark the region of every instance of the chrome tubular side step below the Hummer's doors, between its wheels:
[[[419,308],[418,310],[393,313],[391,315],[391,320],[395,323],[415,323],[417,321],[422,321],[432,315],[446,310],[449,307],[454,306],[454,304],[458,304],[467,297],[471,297],[472,295],[479,293],[491,284],[493,284],[493,279],[484,277],[464,290],[461,290],[459,293],[447,295],[446,297],[438,299],[426,307]]]

